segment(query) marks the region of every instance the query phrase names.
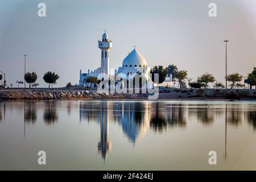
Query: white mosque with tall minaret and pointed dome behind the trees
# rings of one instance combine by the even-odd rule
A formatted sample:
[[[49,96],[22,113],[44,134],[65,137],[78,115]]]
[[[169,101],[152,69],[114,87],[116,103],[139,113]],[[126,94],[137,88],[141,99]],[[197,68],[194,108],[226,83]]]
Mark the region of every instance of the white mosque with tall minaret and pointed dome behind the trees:
[[[135,46],[133,51],[123,59],[121,67],[119,67],[118,70],[115,69],[112,73],[110,73],[109,70],[109,51],[112,49],[112,41],[109,40],[109,35],[106,34],[106,30],[102,35],[102,40],[98,40],[98,48],[101,49],[101,67],[94,69],[94,71],[88,69],[88,73],[82,73],[80,69],[79,85],[91,86],[89,83],[86,83],[85,79],[90,76],[98,77],[100,73],[105,73],[108,77],[117,74],[121,75],[120,73],[122,73],[121,77],[125,76],[127,79],[133,78],[137,73],[143,73],[144,77],[148,80],[150,67],[148,67],[146,59],[137,51]],[[167,77],[162,85],[168,86],[173,84],[170,77]]]

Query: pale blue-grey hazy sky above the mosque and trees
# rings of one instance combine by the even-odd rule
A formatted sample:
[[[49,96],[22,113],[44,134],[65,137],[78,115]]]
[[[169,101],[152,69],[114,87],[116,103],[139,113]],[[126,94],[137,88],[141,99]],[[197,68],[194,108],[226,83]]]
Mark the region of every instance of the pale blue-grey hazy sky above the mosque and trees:
[[[38,4],[46,3],[46,17]],[[217,4],[217,17],[208,15]],[[256,67],[255,0],[1,0],[0,70],[16,86],[27,72],[60,76],[57,85],[78,84],[79,70],[100,67],[98,39],[107,30],[113,42],[110,68],[121,66],[136,46],[148,67],[175,64],[196,79],[205,72],[224,82],[225,44],[228,73],[243,76]]]

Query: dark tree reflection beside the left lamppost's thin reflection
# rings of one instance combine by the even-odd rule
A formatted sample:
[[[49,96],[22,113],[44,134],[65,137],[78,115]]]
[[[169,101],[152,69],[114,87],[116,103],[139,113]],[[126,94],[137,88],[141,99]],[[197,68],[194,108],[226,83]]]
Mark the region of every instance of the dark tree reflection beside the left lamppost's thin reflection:
[[[36,103],[35,101],[24,101],[24,121],[26,123],[36,123]]]

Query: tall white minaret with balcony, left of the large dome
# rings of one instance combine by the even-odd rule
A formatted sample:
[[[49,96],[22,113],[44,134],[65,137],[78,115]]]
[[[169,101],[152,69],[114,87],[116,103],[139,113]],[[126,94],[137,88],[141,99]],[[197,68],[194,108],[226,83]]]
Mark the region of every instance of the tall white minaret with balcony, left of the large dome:
[[[109,40],[109,35],[102,35],[102,41],[98,41],[98,48],[101,49],[101,73],[109,76],[109,50],[112,48],[112,42]]]

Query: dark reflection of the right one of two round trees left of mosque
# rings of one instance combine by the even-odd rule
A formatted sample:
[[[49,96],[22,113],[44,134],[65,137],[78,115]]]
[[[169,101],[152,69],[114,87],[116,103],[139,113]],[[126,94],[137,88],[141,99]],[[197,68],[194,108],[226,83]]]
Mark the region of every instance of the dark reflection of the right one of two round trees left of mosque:
[[[54,125],[58,120],[55,101],[46,101],[44,108],[44,123]]]

